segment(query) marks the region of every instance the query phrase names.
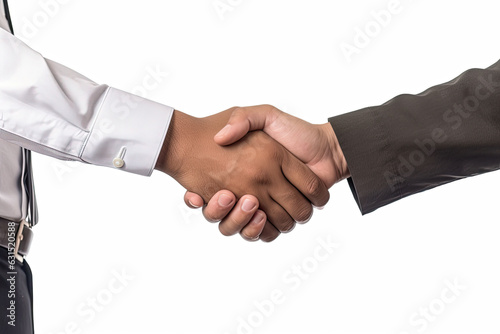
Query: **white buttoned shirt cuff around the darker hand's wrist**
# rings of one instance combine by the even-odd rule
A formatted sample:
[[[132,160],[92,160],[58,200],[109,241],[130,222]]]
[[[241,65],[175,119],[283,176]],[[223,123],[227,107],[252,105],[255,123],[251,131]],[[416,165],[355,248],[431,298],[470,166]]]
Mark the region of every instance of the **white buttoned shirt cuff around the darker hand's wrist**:
[[[108,88],[81,159],[99,166],[150,176],[153,173],[173,108]]]

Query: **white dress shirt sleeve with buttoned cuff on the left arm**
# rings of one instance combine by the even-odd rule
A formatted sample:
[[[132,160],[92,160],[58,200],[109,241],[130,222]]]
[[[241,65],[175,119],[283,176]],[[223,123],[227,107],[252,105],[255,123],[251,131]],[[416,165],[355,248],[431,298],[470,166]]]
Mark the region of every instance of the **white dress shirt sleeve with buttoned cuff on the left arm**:
[[[171,107],[99,85],[0,29],[0,138],[59,159],[151,175]]]

